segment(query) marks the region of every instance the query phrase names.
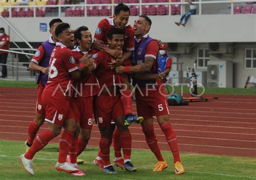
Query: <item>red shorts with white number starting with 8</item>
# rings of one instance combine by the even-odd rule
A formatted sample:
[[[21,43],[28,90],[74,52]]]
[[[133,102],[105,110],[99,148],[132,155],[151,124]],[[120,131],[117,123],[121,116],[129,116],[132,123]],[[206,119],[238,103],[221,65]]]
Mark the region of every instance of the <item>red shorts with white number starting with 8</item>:
[[[76,123],[83,129],[92,129],[93,97],[72,98],[70,106],[75,114]]]

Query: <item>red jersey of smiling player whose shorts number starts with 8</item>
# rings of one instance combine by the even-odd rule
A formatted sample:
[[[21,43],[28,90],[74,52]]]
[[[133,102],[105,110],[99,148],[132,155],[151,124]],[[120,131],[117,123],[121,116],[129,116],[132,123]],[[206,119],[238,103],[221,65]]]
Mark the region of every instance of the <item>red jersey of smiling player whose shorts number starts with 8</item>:
[[[96,50],[90,50],[89,52],[82,52],[79,46],[74,49],[73,56],[75,57],[76,63],[79,63],[79,59],[85,54],[95,54]],[[85,80],[81,80],[75,83],[75,88],[78,92],[75,92],[75,97],[91,97],[99,93],[99,83],[95,76],[95,71],[92,71],[90,75],[84,77]]]

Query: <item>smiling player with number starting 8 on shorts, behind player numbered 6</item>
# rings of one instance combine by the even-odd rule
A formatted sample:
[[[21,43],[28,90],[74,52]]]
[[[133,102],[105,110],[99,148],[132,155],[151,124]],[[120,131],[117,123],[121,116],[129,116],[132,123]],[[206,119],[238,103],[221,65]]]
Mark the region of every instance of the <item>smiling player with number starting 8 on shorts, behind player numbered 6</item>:
[[[73,55],[77,63],[84,55],[92,55],[97,50],[91,51],[92,47],[92,35],[87,27],[81,26],[78,27],[75,31],[76,41],[79,43],[79,46],[76,49],[73,49]],[[97,59],[97,57],[96,57]],[[95,77],[96,68],[92,66],[92,71],[90,74],[81,76],[74,85],[76,88],[75,95],[72,97],[70,104],[72,106],[73,112],[75,114],[75,119],[77,123],[77,131],[75,132],[75,140],[70,148],[68,162],[77,167],[77,156],[80,155],[83,150],[86,148],[88,141],[91,136],[91,129],[93,126],[93,98],[99,92],[99,85]],[[80,137],[79,136],[80,130]],[[82,171],[78,171],[74,176],[84,176],[85,174]]]

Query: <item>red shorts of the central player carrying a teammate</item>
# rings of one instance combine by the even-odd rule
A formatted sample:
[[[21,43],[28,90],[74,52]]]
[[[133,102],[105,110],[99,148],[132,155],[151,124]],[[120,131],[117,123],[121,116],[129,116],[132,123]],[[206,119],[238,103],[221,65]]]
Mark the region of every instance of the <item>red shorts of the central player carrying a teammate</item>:
[[[102,92],[95,100],[96,120],[99,127],[105,127],[111,124],[112,119],[124,116],[123,105],[120,95],[109,96]]]

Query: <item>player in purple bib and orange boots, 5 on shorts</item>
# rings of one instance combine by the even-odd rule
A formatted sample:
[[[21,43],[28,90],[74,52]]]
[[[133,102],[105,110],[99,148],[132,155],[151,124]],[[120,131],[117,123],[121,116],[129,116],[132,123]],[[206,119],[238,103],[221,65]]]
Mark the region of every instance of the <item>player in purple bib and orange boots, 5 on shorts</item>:
[[[147,16],[139,16],[134,21],[135,41],[134,41],[134,59],[132,60],[133,67],[117,67],[117,73],[132,73],[133,83],[139,87],[136,89],[137,112],[139,116],[144,116],[142,129],[145,134],[147,145],[157,157],[157,164],[153,171],[162,171],[167,168],[163,156],[161,155],[156,134],[153,127],[153,116],[157,117],[158,124],[165,134],[167,143],[170,146],[174,159],[175,174],[183,174],[184,168],[180,161],[178,143],[176,134],[174,133],[168,109],[167,98],[164,92],[164,87],[161,82],[154,78],[142,80],[143,73],[154,75],[157,73],[157,54],[159,46],[155,40],[149,37],[151,27],[151,19]]]

